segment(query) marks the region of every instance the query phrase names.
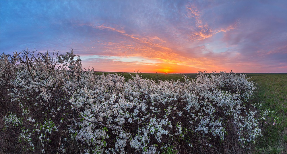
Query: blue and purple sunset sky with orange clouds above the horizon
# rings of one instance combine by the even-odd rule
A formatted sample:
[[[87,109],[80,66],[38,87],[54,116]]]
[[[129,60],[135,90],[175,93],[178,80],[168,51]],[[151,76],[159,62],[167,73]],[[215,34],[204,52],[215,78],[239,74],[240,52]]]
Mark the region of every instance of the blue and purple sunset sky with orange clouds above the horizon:
[[[0,53],[94,71],[287,72],[287,1],[0,1]]]

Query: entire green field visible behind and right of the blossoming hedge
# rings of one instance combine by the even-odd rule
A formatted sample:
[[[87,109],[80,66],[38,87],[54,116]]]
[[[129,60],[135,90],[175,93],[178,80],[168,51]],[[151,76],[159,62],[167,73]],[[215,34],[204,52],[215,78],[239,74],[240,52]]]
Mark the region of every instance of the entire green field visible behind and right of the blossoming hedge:
[[[101,75],[103,72],[95,72]],[[108,72],[105,72],[108,73]],[[115,74],[116,72],[110,72]],[[120,75],[121,73],[117,73]],[[131,73],[135,75],[136,73]],[[160,74],[138,73],[143,78],[153,80],[178,80],[182,75],[195,78],[196,73]],[[259,120],[262,137],[251,147],[253,153],[287,153],[287,74],[286,73],[245,73],[249,81],[257,83],[253,106],[260,119],[266,110],[270,111],[265,120]],[[123,73],[125,80],[132,79],[129,73]],[[260,105],[261,104],[261,105]],[[275,122],[275,124],[274,124]]]

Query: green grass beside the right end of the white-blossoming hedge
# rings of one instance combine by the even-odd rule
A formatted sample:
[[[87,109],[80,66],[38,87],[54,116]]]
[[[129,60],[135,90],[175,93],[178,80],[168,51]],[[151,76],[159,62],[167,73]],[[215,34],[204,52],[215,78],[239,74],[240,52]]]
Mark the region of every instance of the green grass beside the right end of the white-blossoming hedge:
[[[247,76],[258,84],[254,100],[262,104],[258,107],[260,112],[270,111],[261,123],[263,137],[257,140],[253,152],[287,153],[287,74],[250,73]]]

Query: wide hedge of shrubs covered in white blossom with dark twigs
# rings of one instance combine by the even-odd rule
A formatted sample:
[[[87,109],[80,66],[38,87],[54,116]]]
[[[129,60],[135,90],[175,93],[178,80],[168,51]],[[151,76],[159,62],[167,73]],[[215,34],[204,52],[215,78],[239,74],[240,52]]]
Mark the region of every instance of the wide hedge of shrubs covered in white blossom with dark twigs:
[[[260,136],[245,75],[94,75],[73,51],[0,57],[0,153],[244,153]]]

